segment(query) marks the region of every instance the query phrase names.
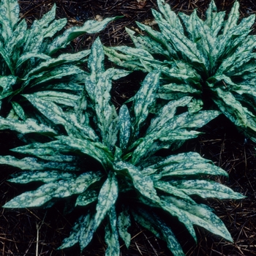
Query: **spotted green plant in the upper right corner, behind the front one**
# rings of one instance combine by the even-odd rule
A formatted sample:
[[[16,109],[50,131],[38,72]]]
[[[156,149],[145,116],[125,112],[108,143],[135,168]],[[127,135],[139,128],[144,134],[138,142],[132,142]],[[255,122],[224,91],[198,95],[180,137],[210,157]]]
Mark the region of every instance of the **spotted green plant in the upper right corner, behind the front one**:
[[[105,48],[111,61],[129,69],[162,72],[159,97],[194,97],[191,110],[218,108],[246,136],[256,141],[255,15],[239,20],[238,1],[227,19],[214,1],[206,20],[179,13],[163,0],[152,10],[159,30],[137,23],[146,35],[127,29],[136,48]]]

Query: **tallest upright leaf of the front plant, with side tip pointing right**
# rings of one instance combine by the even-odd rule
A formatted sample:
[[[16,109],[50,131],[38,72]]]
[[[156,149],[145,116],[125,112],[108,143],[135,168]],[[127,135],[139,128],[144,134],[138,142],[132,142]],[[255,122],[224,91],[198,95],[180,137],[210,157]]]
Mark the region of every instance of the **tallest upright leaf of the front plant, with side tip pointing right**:
[[[91,98],[96,113],[95,123],[101,131],[102,143],[113,148],[117,140],[118,116],[116,109],[110,105],[110,89],[113,78],[121,78],[129,72],[120,69],[104,69],[104,51],[97,38],[92,45],[88,66],[91,75],[86,78],[86,92]]]

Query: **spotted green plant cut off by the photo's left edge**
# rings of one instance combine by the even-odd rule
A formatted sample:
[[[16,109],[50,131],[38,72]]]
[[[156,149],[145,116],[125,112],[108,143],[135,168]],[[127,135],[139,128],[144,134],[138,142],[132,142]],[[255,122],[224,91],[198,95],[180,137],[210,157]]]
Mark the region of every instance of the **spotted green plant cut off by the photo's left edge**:
[[[62,54],[59,50],[82,34],[101,31],[116,18],[88,20],[83,26],[62,33],[67,19],[55,20],[55,4],[29,29],[26,20],[19,18],[18,1],[1,0],[0,12],[0,129],[54,132],[45,126],[47,123],[38,116],[38,111],[33,114],[28,99],[37,96],[64,108],[75,108],[83,91],[81,78],[85,75],[77,64],[86,61],[90,50]],[[34,118],[42,124],[38,125]]]

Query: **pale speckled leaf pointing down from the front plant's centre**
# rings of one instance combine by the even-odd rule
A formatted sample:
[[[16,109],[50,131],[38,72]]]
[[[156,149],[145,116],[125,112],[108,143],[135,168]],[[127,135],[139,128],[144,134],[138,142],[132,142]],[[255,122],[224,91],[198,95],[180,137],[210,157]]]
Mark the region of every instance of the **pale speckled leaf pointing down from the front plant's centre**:
[[[98,202],[96,206],[95,214],[95,226],[94,230],[99,227],[102,220],[105,218],[110,208],[116,203],[118,197],[118,182],[116,175],[113,172],[108,174],[108,179],[102,185],[102,188],[99,191]]]

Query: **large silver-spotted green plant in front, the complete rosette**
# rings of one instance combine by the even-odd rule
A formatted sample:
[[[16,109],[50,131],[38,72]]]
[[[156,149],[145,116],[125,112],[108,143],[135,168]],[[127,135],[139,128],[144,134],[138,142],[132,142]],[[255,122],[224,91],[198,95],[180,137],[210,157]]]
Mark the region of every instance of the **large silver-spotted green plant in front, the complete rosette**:
[[[183,223],[195,241],[194,225],[232,241],[212,209],[193,199],[193,195],[243,198],[209,179],[209,176],[227,176],[225,170],[195,152],[167,157],[157,154],[160,149],[171,150],[184,140],[196,138],[200,134],[196,129],[216,118],[219,112],[189,113],[187,105],[192,97],[182,97],[151,113],[159,89],[159,72],[154,71],[146,76],[135,94],[132,108],[122,105],[117,113],[110,102],[111,80],[127,72],[105,70],[103,61],[104,50],[97,39],[91,48],[88,63],[91,74],[86,77],[83,94],[82,110],[86,105],[86,112],[79,123],[76,120],[72,124],[79,130],[77,134],[12,149],[26,154],[23,159],[0,158],[1,164],[24,170],[16,173],[11,182],[43,183],[36,190],[13,198],[4,207],[50,207],[59,198],[75,196],[74,206],[83,207],[83,215],[59,249],[79,243],[83,250],[99,225],[105,222],[108,244],[105,255],[118,256],[119,238],[129,246],[129,227],[135,221],[166,241],[173,255],[184,255],[170,223],[160,217],[162,212]],[[98,164],[88,164],[88,158]],[[96,170],[93,166],[97,166]]]

